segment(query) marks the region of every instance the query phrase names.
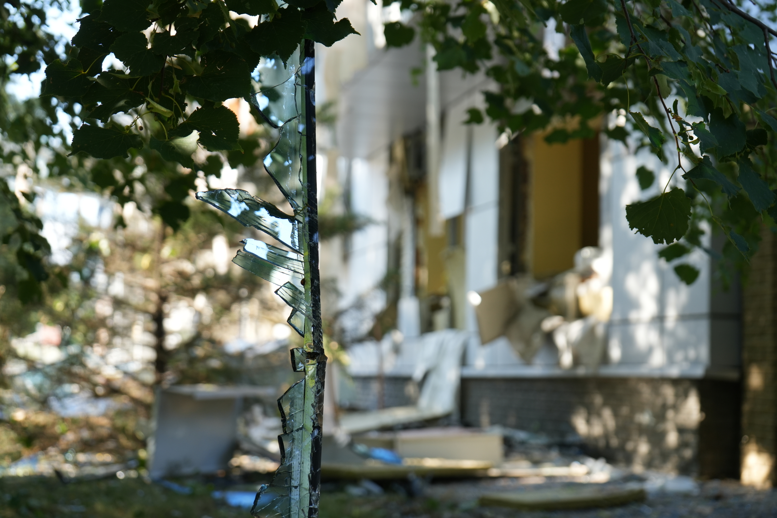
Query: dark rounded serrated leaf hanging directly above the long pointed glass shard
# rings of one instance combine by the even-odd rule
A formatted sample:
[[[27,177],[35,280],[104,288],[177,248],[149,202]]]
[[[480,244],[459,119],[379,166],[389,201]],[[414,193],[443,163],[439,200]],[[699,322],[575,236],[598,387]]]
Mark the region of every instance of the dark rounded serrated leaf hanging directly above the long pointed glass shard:
[[[200,132],[200,144],[208,151],[232,151],[240,149],[238,137],[240,124],[232,110],[226,106],[202,106],[194,110],[175,130],[172,137],[188,137],[193,130]]]

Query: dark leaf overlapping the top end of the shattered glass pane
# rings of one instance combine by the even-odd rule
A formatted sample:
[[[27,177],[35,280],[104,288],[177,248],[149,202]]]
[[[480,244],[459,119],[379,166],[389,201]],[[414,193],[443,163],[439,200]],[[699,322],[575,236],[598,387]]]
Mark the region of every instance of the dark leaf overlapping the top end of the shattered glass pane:
[[[285,64],[305,36],[305,23],[297,9],[285,7],[278,13],[280,16],[271,21],[257,24],[246,35],[246,41],[254,52],[263,56],[277,54]]]

